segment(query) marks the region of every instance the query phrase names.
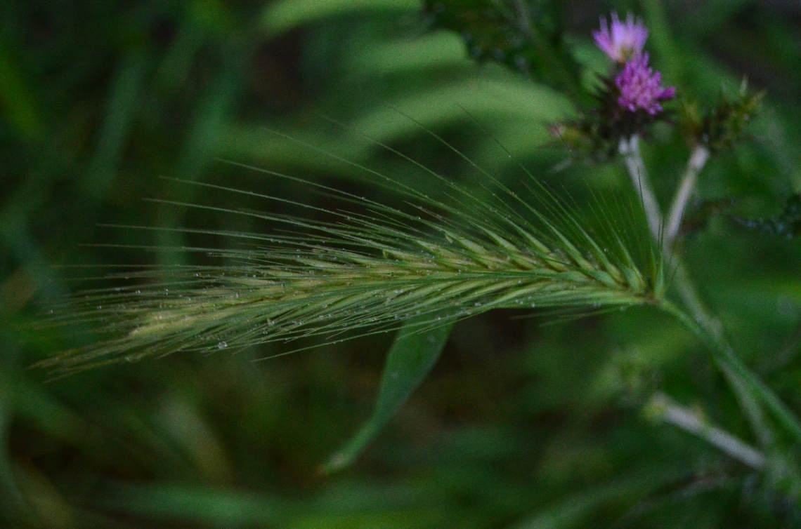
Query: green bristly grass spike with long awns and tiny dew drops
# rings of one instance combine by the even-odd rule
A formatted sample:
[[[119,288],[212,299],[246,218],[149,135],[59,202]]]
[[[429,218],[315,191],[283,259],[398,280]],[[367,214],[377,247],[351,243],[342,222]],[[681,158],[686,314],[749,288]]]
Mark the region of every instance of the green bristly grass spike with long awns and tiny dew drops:
[[[283,224],[292,233],[224,233],[253,246],[195,249],[224,263],[139,271],[133,275],[142,282],[158,283],[74,298],[69,314],[54,322],[96,323],[99,339],[41,365],[69,373],[176,351],[230,351],[307,337],[332,343],[390,331],[418,315],[432,315],[429,328],[494,308],[627,307],[658,303],[662,296],[659,252],[636,247],[647,237],[624,237],[610,222],[590,230],[539,182],[529,182],[529,200],[489,175],[491,192],[481,196],[445,182],[449,204],[371,171],[406,196],[409,213],[265,172],[360,202],[368,213],[326,211],[336,222],[312,222],[228,210]],[[642,219],[627,218],[628,231],[643,229]]]

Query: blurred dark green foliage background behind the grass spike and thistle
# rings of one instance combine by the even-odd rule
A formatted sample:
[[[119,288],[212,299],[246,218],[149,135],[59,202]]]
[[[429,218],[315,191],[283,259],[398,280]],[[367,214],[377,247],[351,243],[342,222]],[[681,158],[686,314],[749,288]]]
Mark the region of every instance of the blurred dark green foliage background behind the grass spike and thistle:
[[[709,163],[699,195],[731,198],[745,218],[775,215],[801,187],[798,7],[564,2],[559,22],[590,69],[590,30],[610,8],[645,16],[653,62],[680,94],[714,105],[743,74],[767,90],[754,139]],[[378,141],[479,189],[481,175],[421,124],[512,186],[519,161],[579,203],[587,186],[628,192],[617,166],[553,171],[566,154],[546,124],[570,118],[568,100],[477,66],[459,35],[427,22],[420,4],[394,0],[0,3],[0,517],[10,527],[799,526],[782,483],[639,415],[661,389],[755,442],[702,347],[654,311],[545,327],[553,316],[497,311],[457,325],[420,391],[336,475],[320,464],[372,410],[391,336],[260,363],[280,348],[174,355],[51,383],[26,369],[85,339],[32,323],[68,292],[115,284],[79,278],[233,243],[169,228],[261,229],[143,201],[264,208],[159,177],[326,203],[219,159],[392,202],[344,157],[436,192]],[[645,156],[662,201],[688,152],[678,134],[654,131]],[[685,246],[739,353],[801,411],[799,241],[718,216]]]

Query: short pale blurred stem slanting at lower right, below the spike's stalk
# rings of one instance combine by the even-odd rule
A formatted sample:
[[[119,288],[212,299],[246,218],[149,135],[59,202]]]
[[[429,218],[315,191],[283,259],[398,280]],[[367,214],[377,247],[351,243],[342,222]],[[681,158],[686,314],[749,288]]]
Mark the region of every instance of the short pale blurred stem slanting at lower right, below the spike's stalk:
[[[653,414],[652,416],[655,419],[660,419],[690,434],[697,435],[707,443],[718,447],[726,452],[727,455],[755,470],[761,471],[767,464],[767,459],[765,459],[762,452],[727,431],[706,423],[706,421],[698,417],[698,414],[693,413],[686,407],[679,406],[678,403],[675,403],[673,399],[670,399],[664,393],[654,395],[649,403],[646,404],[646,411],[649,415]]]

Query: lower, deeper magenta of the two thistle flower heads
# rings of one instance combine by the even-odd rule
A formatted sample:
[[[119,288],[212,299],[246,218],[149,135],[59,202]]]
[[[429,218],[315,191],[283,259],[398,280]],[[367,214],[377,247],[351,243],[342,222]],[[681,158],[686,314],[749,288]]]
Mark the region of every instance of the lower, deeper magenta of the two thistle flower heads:
[[[614,84],[620,90],[618,105],[632,112],[639,109],[646,110],[652,116],[662,112],[660,101],[671,99],[676,94],[675,86],[667,88],[660,86],[662,74],[648,67],[648,54],[635,55],[626,62],[623,71],[615,78]]]

